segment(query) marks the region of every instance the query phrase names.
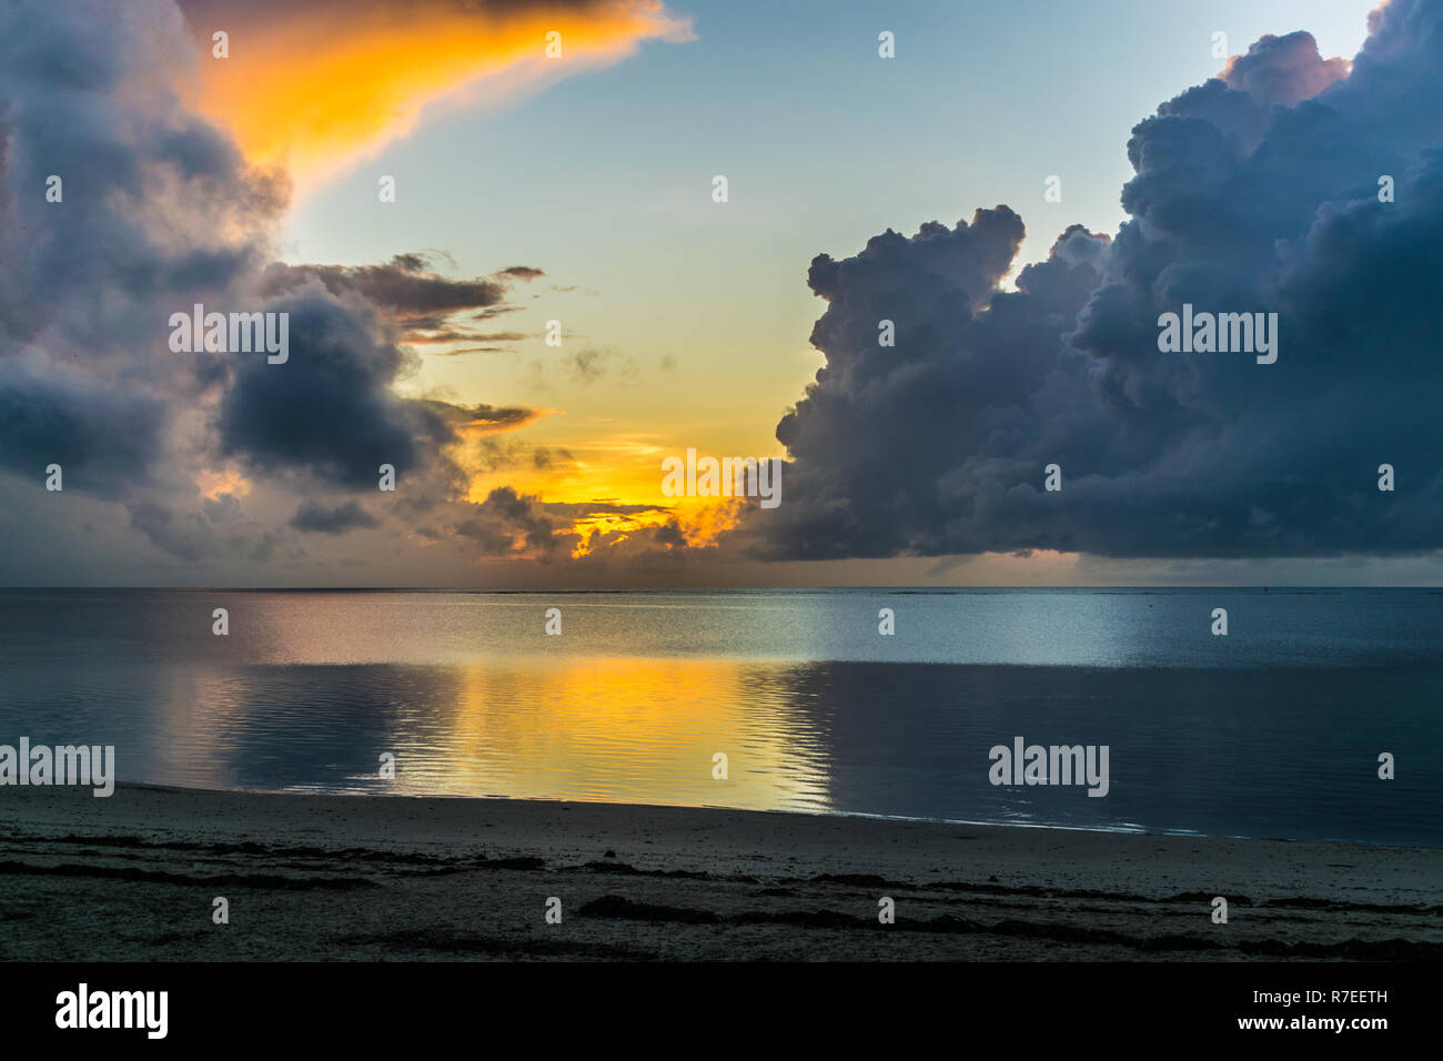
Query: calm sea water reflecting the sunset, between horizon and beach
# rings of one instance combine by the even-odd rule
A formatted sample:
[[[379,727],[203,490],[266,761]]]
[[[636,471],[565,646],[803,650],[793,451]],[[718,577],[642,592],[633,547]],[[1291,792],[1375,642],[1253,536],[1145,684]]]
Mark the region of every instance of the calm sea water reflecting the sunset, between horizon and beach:
[[[1443,846],[1440,634],[1440,590],[6,590],[0,743],[203,788]],[[991,785],[1014,736],[1107,745],[1108,795]]]

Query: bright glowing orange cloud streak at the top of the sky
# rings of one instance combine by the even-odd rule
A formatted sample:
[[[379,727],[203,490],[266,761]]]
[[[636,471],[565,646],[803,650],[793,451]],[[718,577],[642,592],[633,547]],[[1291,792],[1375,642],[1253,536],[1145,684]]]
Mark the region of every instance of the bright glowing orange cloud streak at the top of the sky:
[[[195,105],[247,159],[313,185],[414,128],[436,100],[495,101],[690,40],[661,0],[183,0],[201,48]],[[212,35],[229,58],[212,58]],[[561,58],[547,58],[547,35]]]

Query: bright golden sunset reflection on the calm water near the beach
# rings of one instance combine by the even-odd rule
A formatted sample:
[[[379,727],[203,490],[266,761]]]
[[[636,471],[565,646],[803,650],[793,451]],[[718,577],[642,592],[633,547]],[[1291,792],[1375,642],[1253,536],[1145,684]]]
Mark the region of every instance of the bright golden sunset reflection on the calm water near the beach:
[[[831,808],[818,735],[747,681],[745,663],[563,657],[449,670],[446,732],[395,733],[395,791]],[[713,778],[717,752],[726,780]]]

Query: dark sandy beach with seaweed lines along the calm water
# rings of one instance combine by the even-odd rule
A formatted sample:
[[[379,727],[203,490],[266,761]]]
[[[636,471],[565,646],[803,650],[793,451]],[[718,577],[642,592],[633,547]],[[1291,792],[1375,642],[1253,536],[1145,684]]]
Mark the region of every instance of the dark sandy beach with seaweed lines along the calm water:
[[[544,800],[0,791],[4,960],[1439,960],[1440,881],[1433,847]],[[221,896],[228,924],[212,920]]]

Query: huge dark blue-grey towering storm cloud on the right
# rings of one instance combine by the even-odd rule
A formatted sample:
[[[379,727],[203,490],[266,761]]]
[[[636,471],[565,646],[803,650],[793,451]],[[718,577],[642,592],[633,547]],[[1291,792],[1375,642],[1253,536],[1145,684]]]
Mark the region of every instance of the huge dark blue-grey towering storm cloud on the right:
[[[1258,42],[1133,130],[1115,240],[1068,230],[1017,292],[994,289],[1022,237],[1006,208],[812,263],[827,365],[778,424],[760,551],[1443,546],[1440,23],[1437,0],[1375,13],[1346,78],[1306,33]],[[1185,302],[1276,312],[1277,362],[1159,352]]]

